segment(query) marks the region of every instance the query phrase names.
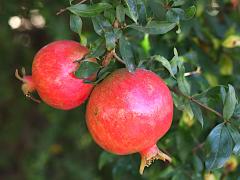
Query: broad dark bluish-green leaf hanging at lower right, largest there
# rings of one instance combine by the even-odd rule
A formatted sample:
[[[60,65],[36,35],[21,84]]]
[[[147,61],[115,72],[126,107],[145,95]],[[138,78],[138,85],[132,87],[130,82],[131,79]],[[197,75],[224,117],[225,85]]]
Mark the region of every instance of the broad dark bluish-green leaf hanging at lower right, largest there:
[[[213,170],[223,167],[232,153],[232,138],[224,123],[217,125],[207,137],[209,153],[206,156],[206,168]]]

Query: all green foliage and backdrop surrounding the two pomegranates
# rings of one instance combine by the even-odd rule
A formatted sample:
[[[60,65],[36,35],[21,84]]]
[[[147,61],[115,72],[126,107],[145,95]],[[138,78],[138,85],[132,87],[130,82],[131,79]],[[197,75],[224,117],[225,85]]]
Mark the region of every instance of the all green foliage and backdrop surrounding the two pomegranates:
[[[18,2],[0,5],[6,9],[0,16],[1,179],[237,179],[239,6],[229,0]],[[46,19],[45,28],[26,25],[32,9]],[[25,25],[6,25],[13,15],[21,15]],[[90,48],[75,72],[87,83],[97,84],[125,66],[164,78],[175,112],[158,145],[171,155],[171,164],[155,162],[140,176],[138,155],[102,152],[92,141],[85,106],[64,112],[23,99],[9,74],[21,65],[30,70],[34,52],[64,38]],[[88,61],[93,57],[97,63]],[[94,82],[86,79],[94,73]]]

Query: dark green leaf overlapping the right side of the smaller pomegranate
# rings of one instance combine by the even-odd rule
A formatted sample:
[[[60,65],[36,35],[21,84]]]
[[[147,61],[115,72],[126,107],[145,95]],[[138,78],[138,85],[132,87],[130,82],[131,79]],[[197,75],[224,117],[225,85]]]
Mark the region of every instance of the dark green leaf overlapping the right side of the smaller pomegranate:
[[[82,61],[80,67],[75,72],[75,76],[80,79],[87,79],[96,73],[100,68],[101,66],[95,62]]]

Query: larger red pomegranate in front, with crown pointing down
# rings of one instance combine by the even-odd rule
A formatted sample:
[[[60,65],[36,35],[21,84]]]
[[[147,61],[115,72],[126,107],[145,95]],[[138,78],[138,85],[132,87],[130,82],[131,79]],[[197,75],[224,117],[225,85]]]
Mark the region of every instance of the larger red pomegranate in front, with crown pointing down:
[[[87,105],[87,126],[94,140],[114,154],[141,154],[140,174],[155,159],[171,158],[156,143],[169,130],[171,93],[155,73],[119,69],[98,84]]]

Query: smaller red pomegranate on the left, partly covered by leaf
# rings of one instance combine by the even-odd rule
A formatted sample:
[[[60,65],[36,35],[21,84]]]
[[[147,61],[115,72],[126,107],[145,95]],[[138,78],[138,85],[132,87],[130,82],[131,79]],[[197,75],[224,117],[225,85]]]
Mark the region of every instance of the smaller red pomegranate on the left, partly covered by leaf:
[[[48,105],[68,110],[82,104],[89,96],[93,85],[85,84],[74,76],[88,49],[75,41],[52,42],[36,54],[32,65],[32,76],[16,77],[23,81],[22,90],[29,96],[36,90]]]

